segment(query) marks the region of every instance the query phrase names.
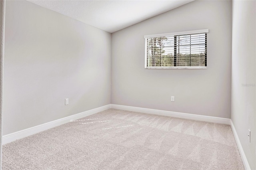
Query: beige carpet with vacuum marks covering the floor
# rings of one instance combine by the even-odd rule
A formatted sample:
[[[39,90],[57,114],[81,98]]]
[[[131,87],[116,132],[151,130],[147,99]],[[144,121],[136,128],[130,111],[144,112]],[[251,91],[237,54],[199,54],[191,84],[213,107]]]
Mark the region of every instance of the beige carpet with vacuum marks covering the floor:
[[[244,170],[229,125],[110,109],[3,146],[3,170]]]

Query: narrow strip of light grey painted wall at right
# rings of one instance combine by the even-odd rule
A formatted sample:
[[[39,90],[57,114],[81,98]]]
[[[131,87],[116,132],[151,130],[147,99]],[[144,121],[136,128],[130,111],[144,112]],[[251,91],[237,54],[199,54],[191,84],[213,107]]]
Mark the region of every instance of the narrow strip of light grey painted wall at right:
[[[231,119],[252,170],[256,169],[256,1],[232,2]],[[248,140],[251,130],[251,142]]]

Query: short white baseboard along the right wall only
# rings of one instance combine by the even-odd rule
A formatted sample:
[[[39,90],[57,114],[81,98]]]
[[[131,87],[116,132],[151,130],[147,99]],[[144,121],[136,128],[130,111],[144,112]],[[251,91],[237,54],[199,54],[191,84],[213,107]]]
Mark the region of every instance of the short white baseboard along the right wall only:
[[[241,158],[242,158],[242,161],[243,161],[243,164],[244,164],[244,168],[246,170],[250,170],[251,169],[250,165],[249,165],[248,160],[245,156],[244,150],[242,148],[242,144],[240,143],[240,140],[238,138],[238,134],[236,133],[236,128],[234,127],[234,124],[233,124],[232,120],[230,121],[230,126],[231,126],[232,132],[234,134],[234,138],[236,140],[236,144],[237,144],[238,150],[240,152],[240,155],[241,155]]]

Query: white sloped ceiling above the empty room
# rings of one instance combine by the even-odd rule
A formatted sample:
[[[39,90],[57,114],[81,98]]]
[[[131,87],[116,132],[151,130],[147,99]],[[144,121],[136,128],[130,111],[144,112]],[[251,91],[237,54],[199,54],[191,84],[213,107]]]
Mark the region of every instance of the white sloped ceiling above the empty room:
[[[112,33],[193,0],[28,1]]]

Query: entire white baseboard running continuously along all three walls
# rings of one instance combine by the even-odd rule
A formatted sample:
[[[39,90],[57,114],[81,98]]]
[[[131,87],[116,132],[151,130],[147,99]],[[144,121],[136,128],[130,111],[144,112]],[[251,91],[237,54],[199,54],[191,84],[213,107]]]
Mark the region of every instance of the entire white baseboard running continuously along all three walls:
[[[18,132],[14,132],[11,134],[4,135],[2,137],[2,144],[7,144],[9,142],[12,142],[14,140],[24,138],[26,136],[30,136],[32,134],[36,134],[38,132],[42,132],[44,130],[48,130],[50,128],[54,128],[60,125],[63,125],[65,123],[68,123],[70,121],[74,121],[77,119],[81,119],[83,117],[93,115],[95,113],[99,113],[101,111],[105,111],[108,109],[120,109],[124,111],[133,111],[133,112],[140,112],[140,113],[147,113],[147,114],[152,114],[152,115],[161,115],[161,116],[169,116],[169,117],[176,117],[176,118],[182,118],[182,119],[191,119],[195,121],[205,121],[205,122],[211,122],[211,123],[221,123],[221,124],[226,124],[230,125],[232,132],[234,134],[234,138],[236,140],[236,143],[238,145],[238,150],[240,152],[240,155],[242,157],[242,161],[244,163],[244,167],[246,170],[250,170],[249,163],[247,161],[247,158],[244,154],[244,150],[242,148],[242,145],[240,143],[240,140],[238,138],[238,135],[236,133],[236,129],[230,119],[226,118],[220,118],[220,117],[210,117],[210,116],[203,116],[203,115],[194,115],[194,114],[188,114],[188,113],[179,113],[179,112],[171,112],[171,111],[162,111],[162,110],[156,110],[156,109],[146,109],[146,108],[140,108],[140,107],[130,107],[130,106],[123,106],[123,105],[105,105],[102,107],[98,107],[96,109],[92,109],[89,111],[85,111],[82,113],[78,113],[76,115],[64,117],[62,119],[58,119],[56,121],[51,121],[48,123],[44,123],[42,125],[38,125],[35,127],[27,128],[24,130],[20,130]]]

